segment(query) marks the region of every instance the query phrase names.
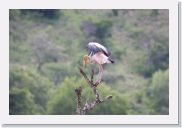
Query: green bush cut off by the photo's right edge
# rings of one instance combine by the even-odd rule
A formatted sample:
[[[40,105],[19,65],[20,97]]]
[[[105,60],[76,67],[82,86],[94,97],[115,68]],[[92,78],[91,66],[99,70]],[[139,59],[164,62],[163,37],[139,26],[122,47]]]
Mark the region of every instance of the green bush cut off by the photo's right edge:
[[[150,92],[154,114],[169,114],[169,70],[154,73]]]

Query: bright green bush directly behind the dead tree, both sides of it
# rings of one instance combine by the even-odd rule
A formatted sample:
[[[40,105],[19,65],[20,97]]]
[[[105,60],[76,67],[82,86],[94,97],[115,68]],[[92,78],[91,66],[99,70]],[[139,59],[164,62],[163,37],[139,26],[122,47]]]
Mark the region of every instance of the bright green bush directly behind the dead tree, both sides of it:
[[[50,94],[50,100],[48,102],[48,113],[55,115],[68,115],[75,114],[76,94],[74,89],[82,85],[82,105],[86,101],[93,101],[94,95],[89,85],[84,79],[78,80],[76,77],[65,78],[61,85]],[[106,84],[99,85],[99,93],[101,97],[113,95],[113,99],[109,102],[98,105],[89,114],[126,114],[127,113],[127,101],[125,97],[119,92],[112,90]],[[121,105],[122,104],[122,105]]]

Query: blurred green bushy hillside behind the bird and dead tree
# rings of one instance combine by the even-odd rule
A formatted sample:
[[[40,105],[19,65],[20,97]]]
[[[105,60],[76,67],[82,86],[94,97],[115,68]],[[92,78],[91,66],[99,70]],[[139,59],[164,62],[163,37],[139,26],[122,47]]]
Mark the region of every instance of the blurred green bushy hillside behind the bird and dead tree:
[[[89,114],[169,114],[168,10],[45,9],[9,10],[9,114],[75,114],[79,86],[93,100],[78,71],[90,41],[115,63],[98,87],[113,99]]]

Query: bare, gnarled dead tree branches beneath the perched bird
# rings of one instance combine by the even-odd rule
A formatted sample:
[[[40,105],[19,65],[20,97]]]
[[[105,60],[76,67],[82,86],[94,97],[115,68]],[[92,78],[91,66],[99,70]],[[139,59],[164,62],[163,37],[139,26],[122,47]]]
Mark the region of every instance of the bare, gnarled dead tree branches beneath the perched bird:
[[[96,106],[98,106],[99,104],[112,99],[112,95],[106,96],[104,99],[102,99],[100,97],[100,94],[98,93],[97,87],[98,85],[101,83],[100,80],[97,80],[96,82],[93,81],[94,79],[94,70],[92,70],[90,79],[88,78],[88,76],[86,75],[86,73],[83,71],[83,69],[80,67],[79,68],[80,73],[82,74],[82,76],[85,78],[85,80],[87,81],[88,85],[90,86],[90,88],[92,89],[92,92],[95,96],[95,100],[94,101],[86,101],[85,104],[82,106],[82,100],[81,100],[81,96],[82,96],[82,88],[78,87],[75,89],[75,93],[77,96],[77,109],[76,109],[76,113],[78,115],[85,115],[87,114],[90,110],[92,110],[93,108],[95,108]]]

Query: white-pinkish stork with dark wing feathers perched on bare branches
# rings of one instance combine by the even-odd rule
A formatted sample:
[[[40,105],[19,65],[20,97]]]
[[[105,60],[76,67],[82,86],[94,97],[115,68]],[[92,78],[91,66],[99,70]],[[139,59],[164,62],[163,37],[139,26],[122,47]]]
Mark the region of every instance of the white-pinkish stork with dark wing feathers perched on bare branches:
[[[101,81],[103,75],[102,64],[114,63],[114,61],[109,57],[111,53],[107,50],[106,47],[96,42],[88,43],[87,51],[88,55],[84,55],[83,57],[83,66],[85,67],[86,64],[90,62],[98,64],[100,78],[99,80]]]

